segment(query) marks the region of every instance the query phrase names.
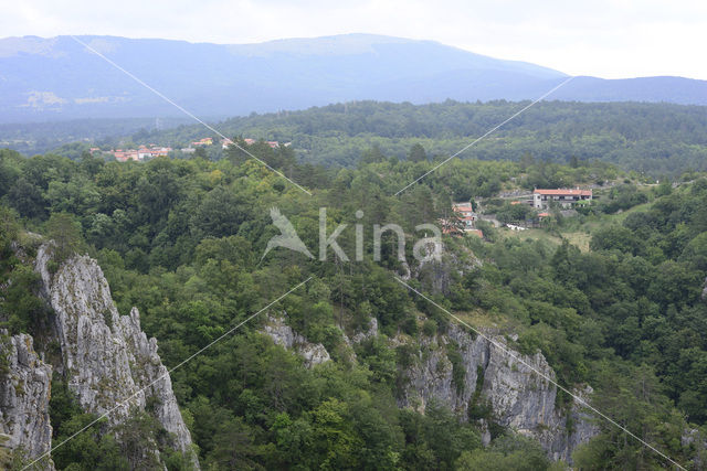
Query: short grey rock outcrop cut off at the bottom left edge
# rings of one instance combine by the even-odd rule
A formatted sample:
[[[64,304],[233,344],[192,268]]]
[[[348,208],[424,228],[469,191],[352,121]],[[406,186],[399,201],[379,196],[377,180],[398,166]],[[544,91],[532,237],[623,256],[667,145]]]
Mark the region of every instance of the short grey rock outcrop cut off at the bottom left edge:
[[[40,360],[30,335],[9,336],[7,331],[0,331],[0,354],[4,356],[0,371],[1,446],[35,460],[52,446],[49,418],[52,366]],[[41,464],[54,469],[49,458]]]

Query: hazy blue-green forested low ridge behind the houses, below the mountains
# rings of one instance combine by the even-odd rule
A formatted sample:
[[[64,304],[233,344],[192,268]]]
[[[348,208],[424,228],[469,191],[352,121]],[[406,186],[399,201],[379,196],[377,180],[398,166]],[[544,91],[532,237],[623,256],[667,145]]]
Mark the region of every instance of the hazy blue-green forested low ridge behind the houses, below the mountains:
[[[293,142],[299,159],[354,167],[378,146],[404,159],[413,143],[431,158],[446,158],[503,122],[526,103],[489,101],[414,106],[355,101],[232,118],[215,125],[226,136]],[[179,147],[204,136],[201,126],[140,132],[135,142]],[[707,108],[667,104],[539,103],[460,157],[481,160],[538,160],[570,164],[600,160],[653,178],[707,170]]]

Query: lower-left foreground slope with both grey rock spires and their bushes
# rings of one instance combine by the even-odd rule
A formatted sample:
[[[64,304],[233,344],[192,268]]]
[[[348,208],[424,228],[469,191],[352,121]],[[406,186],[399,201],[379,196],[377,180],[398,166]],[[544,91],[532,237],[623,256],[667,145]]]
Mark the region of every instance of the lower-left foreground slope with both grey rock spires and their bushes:
[[[36,234],[21,234],[0,211],[0,318],[11,331],[0,330],[0,464],[53,470],[97,460],[198,471],[169,373],[138,310],[118,314],[96,261],[72,255],[78,247],[66,237],[39,246]]]

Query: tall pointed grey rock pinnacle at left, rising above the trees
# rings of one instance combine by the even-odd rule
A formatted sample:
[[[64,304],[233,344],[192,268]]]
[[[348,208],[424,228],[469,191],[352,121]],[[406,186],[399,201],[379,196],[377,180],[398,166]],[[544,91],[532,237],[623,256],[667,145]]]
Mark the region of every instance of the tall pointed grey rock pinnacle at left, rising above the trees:
[[[118,314],[101,267],[87,256],[74,256],[50,274],[51,251],[50,245],[40,247],[35,268],[55,313],[60,370],[82,408],[98,415],[108,413],[108,422],[117,425],[130,409],[146,410],[149,402],[149,411],[171,435],[172,447],[190,453],[198,468],[157,341],[148,340],[141,331],[138,310]]]

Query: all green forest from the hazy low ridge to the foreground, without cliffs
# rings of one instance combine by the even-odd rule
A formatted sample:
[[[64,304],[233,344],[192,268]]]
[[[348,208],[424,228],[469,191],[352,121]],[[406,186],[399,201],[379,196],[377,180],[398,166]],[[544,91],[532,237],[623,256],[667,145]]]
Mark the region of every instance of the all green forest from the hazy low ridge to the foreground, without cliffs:
[[[475,148],[471,156],[479,160],[451,161],[394,196],[433,167],[424,158],[399,159],[420,156],[419,149],[411,152],[412,143],[423,143],[430,154],[457,150],[465,137],[482,133],[515,107],[362,103],[224,124],[247,137],[292,139],[292,148],[261,142],[247,149],[312,196],[235,148],[218,161],[128,163],[89,154],[27,159],[3,150],[2,324],[11,334],[41,338],[52,315],[33,295],[38,276],[17,256],[18,246],[30,255],[35,250],[28,231],[57,240],[65,256],[95,257],[118,310],[139,308],[143,328],[157,338],[168,367],[312,277],[172,372],[202,469],[561,467],[534,439],[496,424],[478,395],[464,415],[435,400],[400,407],[410,372],[432,354],[422,345],[449,335],[455,324],[395,280],[409,270],[410,286],[469,325],[492,329],[521,354],[540,352],[560,385],[591,385],[594,407],[680,464],[699,469],[707,422],[707,179],[694,173],[688,184],[647,186],[606,162],[651,172],[701,169],[704,109],[539,104]],[[148,138],[196,133],[178,128]],[[304,163],[298,151],[305,152]],[[521,159],[526,152],[536,159]],[[481,223],[483,238],[445,235],[442,261],[405,267],[391,235],[383,237],[381,260],[373,260],[374,224],[405,229],[410,261],[421,237],[415,226],[452,217],[452,202],[473,199],[511,221],[515,210],[497,197],[503,191],[590,184],[600,199],[574,215],[553,208],[527,236]],[[283,248],[263,257],[279,234],[272,207],[313,251],[320,207],[329,231],[348,224],[338,238],[347,254],[356,253],[354,226],[363,225],[365,257],[344,263],[330,250],[327,260],[312,260]],[[267,317],[275,314],[320,344],[330,361],[305,364],[264,335]],[[377,334],[350,342],[372,319]],[[479,390],[463,383],[467,372],[460,353],[454,343],[446,345],[456,387]],[[54,407],[66,411],[52,416],[59,442],[86,419],[66,406],[75,399],[60,376],[54,384]],[[555,407],[568,410],[570,402],[558,394]],[[668,465],[612,424],[598,418],[595,425],[598,435],[574,450],[574,465]],[[564,426],[570,433],[571,420]],[[54,452],[57,468],[116,469],[120,443],[93,431],[82,437]],[[173,460],[169,467],[188,463]]]

